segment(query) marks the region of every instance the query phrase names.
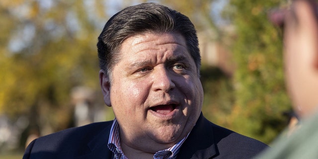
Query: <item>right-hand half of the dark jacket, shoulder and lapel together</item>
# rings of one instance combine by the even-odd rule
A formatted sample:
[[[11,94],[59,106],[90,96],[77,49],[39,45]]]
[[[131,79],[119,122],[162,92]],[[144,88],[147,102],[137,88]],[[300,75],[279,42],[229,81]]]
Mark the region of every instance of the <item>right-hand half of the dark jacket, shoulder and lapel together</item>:
[[[179,159],[250,159],[268,146],[218,126],[201,115],[181,147]]]

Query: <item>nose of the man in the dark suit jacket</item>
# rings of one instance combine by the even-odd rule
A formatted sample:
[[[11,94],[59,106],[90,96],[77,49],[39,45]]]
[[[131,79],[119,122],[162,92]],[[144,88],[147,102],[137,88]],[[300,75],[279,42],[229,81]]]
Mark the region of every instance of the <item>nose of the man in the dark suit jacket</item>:
[[[163,90],[168,92],[175,87],[175,83],[171,79],[171,75],[164,68],[159,68],[153,72],[153,89],[155,91]]]

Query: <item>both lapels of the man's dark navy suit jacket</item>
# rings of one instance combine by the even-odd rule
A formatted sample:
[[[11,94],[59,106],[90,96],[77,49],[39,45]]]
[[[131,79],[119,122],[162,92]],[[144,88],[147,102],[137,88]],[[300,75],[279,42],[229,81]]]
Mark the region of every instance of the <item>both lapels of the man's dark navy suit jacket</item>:
[[[108,124],[91,142],[88,143],[90,152],[75,159],[111,159],[112,152],[108,149],[108,139],[111,123]],[[209,159],[218,154],[210,122],[200,114],[186,141],[178,153],[177,159]]]

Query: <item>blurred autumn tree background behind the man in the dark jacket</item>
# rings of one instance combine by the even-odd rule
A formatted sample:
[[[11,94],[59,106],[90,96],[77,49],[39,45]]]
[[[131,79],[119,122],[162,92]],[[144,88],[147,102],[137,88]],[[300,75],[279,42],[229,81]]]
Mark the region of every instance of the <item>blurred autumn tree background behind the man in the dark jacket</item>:
[[[282,33],[268,20],[286,0],[1,0],[0,159],[21,159],[39,136],[114,118],[99,88],[97,37],[141,2],[195,24],[209,120],[267,144],[287,127]]]

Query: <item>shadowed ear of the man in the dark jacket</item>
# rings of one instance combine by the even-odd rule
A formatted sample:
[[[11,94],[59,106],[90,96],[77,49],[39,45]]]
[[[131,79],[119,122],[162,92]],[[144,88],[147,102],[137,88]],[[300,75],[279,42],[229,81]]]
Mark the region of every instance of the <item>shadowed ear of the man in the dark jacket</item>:
[[[107,106],[111,106],[110,102],[110,80],[104,70],[99,71],[99,84],[104,96],[104,102]]]

